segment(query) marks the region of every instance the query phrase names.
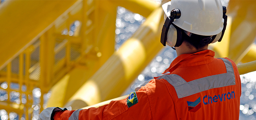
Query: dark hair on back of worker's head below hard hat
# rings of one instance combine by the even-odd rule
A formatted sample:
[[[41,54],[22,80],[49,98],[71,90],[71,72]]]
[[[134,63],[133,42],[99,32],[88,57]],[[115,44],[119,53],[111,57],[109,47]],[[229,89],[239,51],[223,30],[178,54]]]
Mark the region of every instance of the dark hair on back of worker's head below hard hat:
[[[208,46],[208,44],[212,42],[212,38],[210,36],[192,34],[189,37],[184,31],[182,31],[182,39],[189,48],[192,49],[192,47],[194,47],[197,50]]]

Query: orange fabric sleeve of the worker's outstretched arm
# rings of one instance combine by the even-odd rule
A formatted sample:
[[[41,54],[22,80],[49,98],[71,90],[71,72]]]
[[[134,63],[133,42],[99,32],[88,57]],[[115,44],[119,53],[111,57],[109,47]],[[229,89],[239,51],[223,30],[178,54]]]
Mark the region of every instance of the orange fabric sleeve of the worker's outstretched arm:
[[[138,103],[127,106],[127,99],[111,101],[107,105],[98,108],[92,107],[79,112],[79,120],[130,120],[130,119],[152,119],[149,98],[146,90],[142,87],[136,92]],[[54,120],[68,120],[74,111],[58,111]]]

